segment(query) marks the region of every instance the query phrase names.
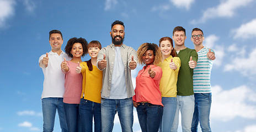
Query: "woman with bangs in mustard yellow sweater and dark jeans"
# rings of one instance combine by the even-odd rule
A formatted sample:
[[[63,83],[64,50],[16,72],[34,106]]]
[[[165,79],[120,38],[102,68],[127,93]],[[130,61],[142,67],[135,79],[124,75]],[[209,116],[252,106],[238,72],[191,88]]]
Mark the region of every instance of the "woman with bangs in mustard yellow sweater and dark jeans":
[[[88,44],[89,61],[82,62],[77,67],[77,73],[83,75],[83,90],[79,105],[83,131],[92,131],[94,117],[94,131],[102,131],[100,112],[100,92],[102,91],[102,70],[96,67],[97,55],[102,45],[99,41],[91,41]]]

